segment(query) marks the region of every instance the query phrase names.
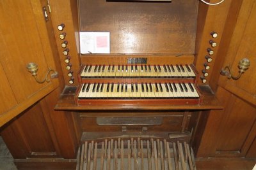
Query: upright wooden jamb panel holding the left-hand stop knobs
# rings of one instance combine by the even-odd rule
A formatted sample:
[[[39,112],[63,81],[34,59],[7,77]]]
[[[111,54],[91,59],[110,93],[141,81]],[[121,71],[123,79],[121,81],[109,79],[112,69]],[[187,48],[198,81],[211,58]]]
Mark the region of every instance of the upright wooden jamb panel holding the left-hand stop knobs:
[[[59,38],[59,35],[62,32],[65,32],[67,36],[65,37],[65,41],[68,41],[67,48],[69,49],[68,55],[70,56],[70,64],[72,64],[71,70],[73,72],[74,84],[78,85],[77,81],[77,71],[79,71],[80,67],[80,58],[78,57],[77,49],[79,49],[79,45],[77,45],[78,41],[78,18],[77,18],[77,4],[76,0],[52,0],[51,1],[51,19],[54,30],[54,35],[56,38],[57,49],[60,57],[60,64],[65,80],[65,85],[70,85],[68,81],[70,77],[67,76],[68,70],[66,69],[67,64],[64,62],[65,56],[63,55],[64,48],[61,47],[61,43],[63,43],[63,39]],[[74,21],[73,21],[74,19]],[[77,23],[76,23],[77,22]],[[59,24],[65,24],[64,30],[61,32],[58,30]],[[76,36],[76,37],[75,37]],[[76,41],[77,39],[77,41]],[[78,47],[78,48],[77,48]]]

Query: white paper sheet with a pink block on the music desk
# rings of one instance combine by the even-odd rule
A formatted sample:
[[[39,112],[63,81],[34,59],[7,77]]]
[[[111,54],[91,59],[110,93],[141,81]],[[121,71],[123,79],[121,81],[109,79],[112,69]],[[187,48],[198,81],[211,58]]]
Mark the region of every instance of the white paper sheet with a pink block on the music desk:
[[[80,53],[110,53],[109,32],[79,32]]]

